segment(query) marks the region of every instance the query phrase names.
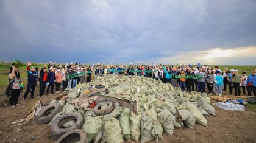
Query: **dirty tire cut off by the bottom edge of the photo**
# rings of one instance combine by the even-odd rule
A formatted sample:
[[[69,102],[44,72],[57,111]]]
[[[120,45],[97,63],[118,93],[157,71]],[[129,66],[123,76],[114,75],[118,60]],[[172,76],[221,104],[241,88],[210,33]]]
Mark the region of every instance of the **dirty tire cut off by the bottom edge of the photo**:
[[[80,129],[68,131],[68,133],[63,134],[56,143],[73,143],[76,141],[79,141],[80,143],[87,143],[87,136]]]

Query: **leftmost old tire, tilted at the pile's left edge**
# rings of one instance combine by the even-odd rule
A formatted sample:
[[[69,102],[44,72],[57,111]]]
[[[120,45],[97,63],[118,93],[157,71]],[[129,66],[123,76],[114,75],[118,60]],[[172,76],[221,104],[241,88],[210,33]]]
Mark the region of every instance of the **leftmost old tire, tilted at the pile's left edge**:
[[[39,124],[48,124],[52,118],[62,111],[62,106],[59,103],[50,103],[45,106],[37,115]]]

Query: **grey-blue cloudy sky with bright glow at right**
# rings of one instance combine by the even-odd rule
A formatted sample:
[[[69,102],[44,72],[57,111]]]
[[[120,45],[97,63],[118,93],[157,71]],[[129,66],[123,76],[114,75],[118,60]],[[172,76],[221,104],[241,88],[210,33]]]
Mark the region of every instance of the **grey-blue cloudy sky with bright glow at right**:
[[[0,60],[256,65],[255,0],[0,0]]]

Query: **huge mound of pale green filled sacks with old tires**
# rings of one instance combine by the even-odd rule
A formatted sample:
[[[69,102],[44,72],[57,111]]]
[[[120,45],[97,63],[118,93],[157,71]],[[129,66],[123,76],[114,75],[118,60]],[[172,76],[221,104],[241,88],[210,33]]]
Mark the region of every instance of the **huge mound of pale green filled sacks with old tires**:
[[[57,142],[158,142],[174,128],[207,127],[205,117],[216,116],[209,103],[207,94],[183,92],[152,78],[106,75],[66,89],[37,121],[51,125]]]

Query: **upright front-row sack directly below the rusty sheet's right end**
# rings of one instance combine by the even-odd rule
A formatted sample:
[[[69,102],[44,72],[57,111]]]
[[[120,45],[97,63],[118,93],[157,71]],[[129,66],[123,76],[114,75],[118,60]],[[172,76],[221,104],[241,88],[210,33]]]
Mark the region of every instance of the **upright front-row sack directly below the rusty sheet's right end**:
[[[133,112],[130,113],[130,138],[136,142],[140,139],[140,116]]]

